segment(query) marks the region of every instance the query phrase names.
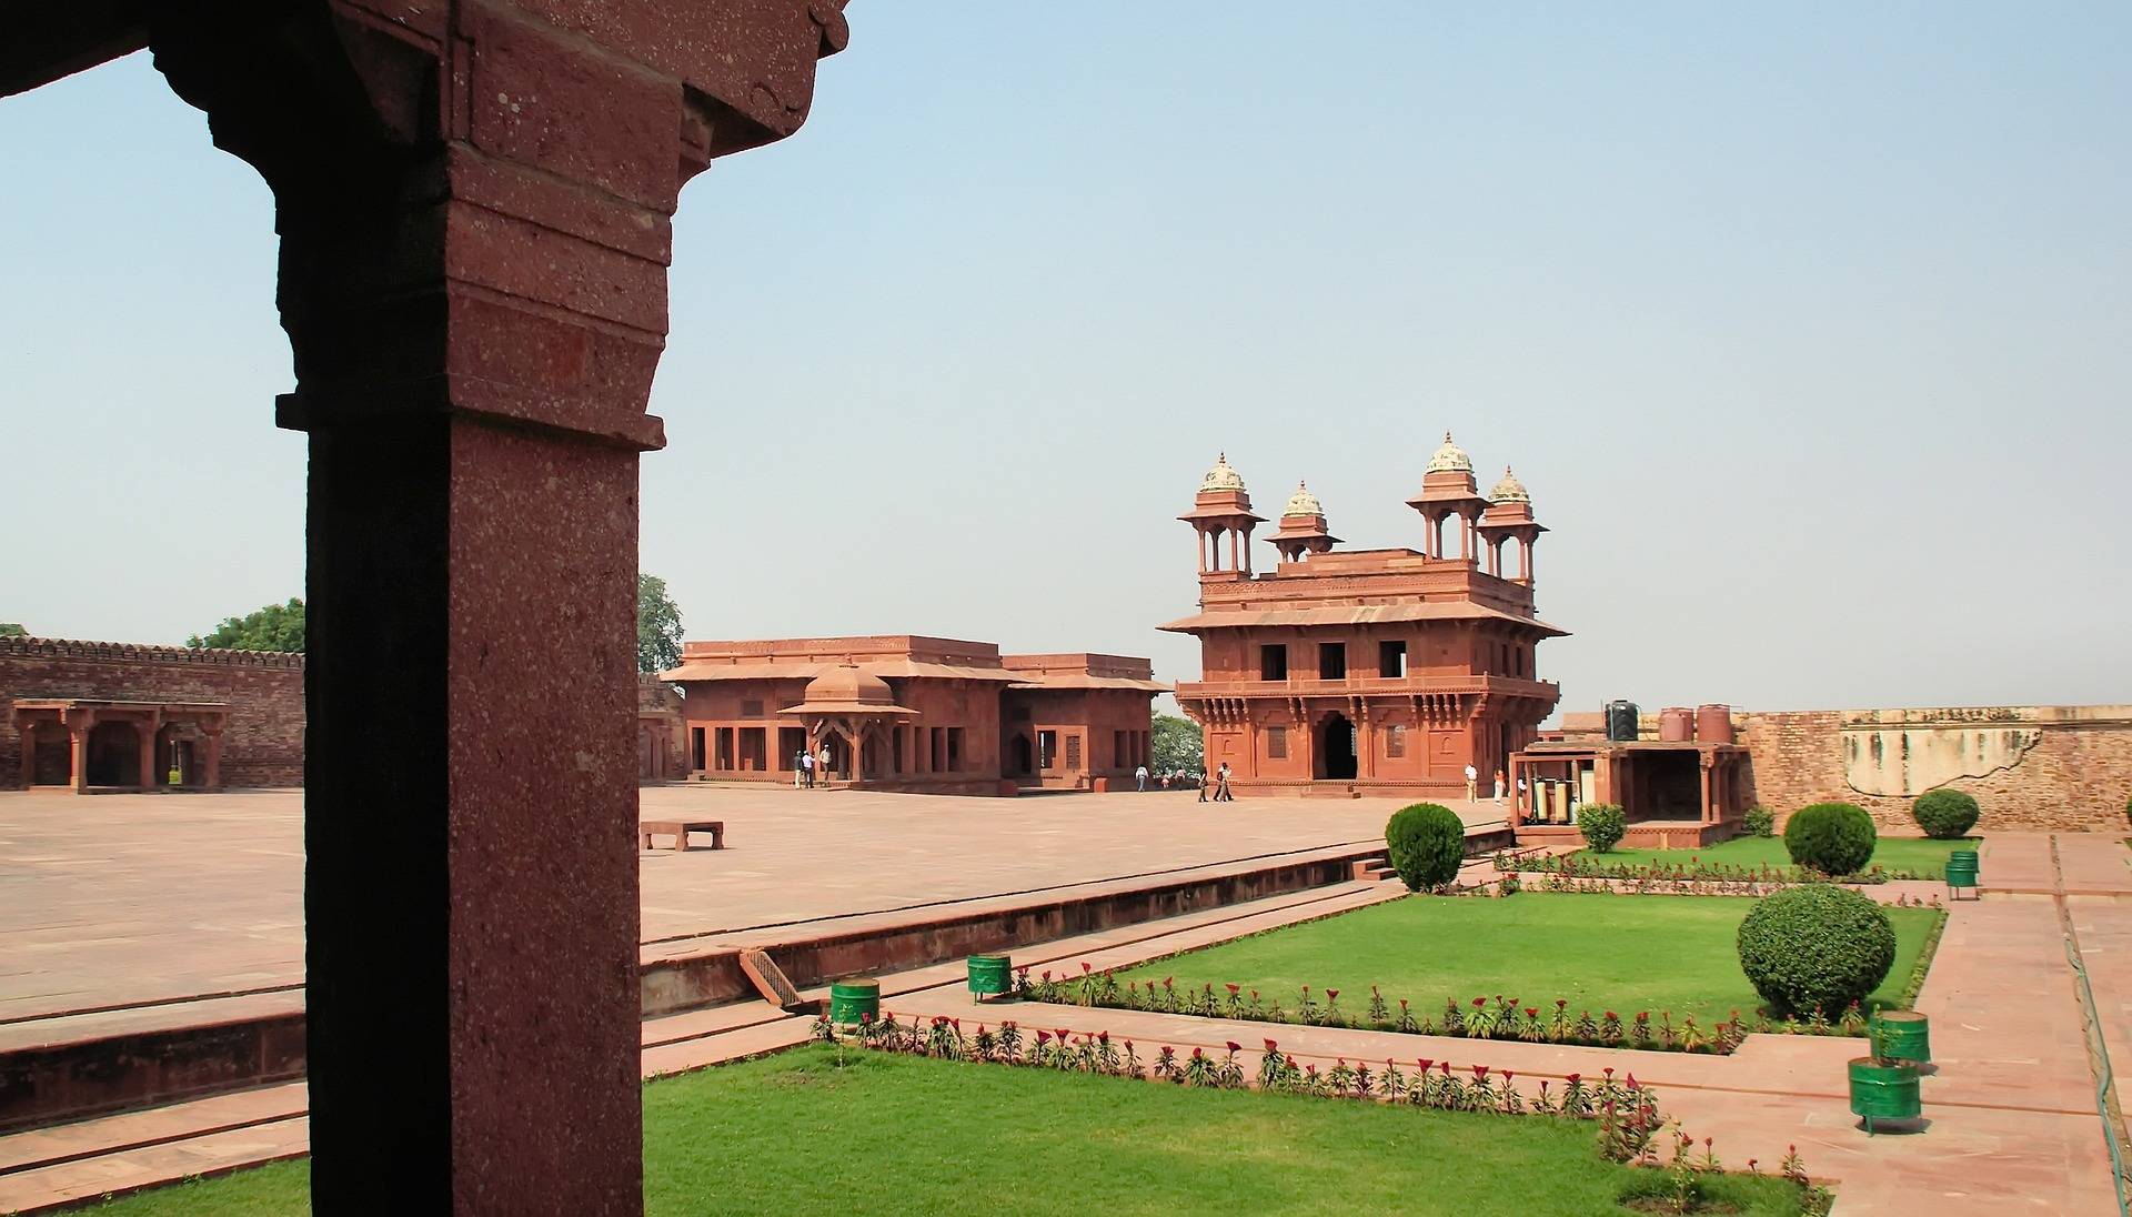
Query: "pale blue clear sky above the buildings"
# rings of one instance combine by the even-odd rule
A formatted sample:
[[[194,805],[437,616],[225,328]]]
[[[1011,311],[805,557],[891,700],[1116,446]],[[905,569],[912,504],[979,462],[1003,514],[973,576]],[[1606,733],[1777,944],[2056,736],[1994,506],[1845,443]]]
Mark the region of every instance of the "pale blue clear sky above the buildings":
[[[682,196],[644,569],[1192,678],[1215,450],[1396,546],[1452,428],[1567,708],[2132,701],[2132,6],[1616,9],[861,0]],[[301,593],[258,177],[143,55],[0,164],[0,620]]]

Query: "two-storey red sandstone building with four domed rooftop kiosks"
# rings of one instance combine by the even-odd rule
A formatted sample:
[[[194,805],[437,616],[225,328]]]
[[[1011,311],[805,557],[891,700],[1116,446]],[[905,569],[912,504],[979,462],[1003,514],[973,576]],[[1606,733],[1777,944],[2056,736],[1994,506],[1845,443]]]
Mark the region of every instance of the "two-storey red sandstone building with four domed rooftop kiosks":
[[[1465,797],[1473,765],[1488,797],[1554,710],[1535,650],[1565,631],[1533,616],[1546,529],[1531,494],[1507,469],[1480,494],[1445,435],[1407,505],[1426,524],[1422,550],[1341,552],[1298,486],[1271,573],[1251,571],[1264,518],[1226,456],[1179,516],[1198,537],[1200,612],[1162,629],[1200,639],[1202,676],[1177,701],[1239,793]]]

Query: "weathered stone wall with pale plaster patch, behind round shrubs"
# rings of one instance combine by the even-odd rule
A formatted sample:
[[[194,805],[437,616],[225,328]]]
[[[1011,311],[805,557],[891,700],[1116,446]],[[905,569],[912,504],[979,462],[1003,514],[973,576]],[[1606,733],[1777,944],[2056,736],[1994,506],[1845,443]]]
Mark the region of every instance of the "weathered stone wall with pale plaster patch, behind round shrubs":
[[[1842,799],[1915,833],[1910,804],[1949,786],[1983,804],[1981,831],[2123,831],[2132,705],[1733,712],[1753,799],[1778,812]]]

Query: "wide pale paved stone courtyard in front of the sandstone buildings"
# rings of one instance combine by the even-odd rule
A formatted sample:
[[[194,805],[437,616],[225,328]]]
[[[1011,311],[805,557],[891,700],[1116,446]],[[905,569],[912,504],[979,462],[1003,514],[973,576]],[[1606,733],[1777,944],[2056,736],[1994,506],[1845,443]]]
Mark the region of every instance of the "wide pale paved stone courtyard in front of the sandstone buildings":
[[[642,938],[1382,842],[1394,808],[648,786],[644,818],[723,818],[729,848],[642,855]],[[1460,814],[1501,818],[1488,801]],[[301,983],[303,791],[0,793],[0,1023]]]

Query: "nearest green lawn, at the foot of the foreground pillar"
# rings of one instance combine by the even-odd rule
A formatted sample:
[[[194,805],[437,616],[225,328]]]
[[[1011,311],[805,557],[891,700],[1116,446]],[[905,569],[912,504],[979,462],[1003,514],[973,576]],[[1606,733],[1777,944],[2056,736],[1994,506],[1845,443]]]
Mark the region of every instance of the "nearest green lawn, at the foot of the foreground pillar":
[[[1590,1123],[836,1059],[810,1046],[644,1087],[646,1211],[1582,1217],[1627,1213],[1614,1198],[1635,1177],[1597,1155]],[[96,1213],[303,1213],[307,1177],[303,1162],[266,1166]],[[1776,1179],[1712,1187],[1738,1213],[1797,1213]]]

